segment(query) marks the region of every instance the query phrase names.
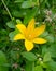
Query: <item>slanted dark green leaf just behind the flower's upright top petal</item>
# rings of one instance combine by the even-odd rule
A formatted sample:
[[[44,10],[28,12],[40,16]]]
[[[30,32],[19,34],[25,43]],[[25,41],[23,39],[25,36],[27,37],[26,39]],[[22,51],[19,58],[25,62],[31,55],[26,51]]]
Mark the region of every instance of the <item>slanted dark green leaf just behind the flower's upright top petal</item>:
[[[29,11],[26,14],[25,19],[24,19],[24,24],[29,23],[29,21],[36,16],[37,11],[38,11],[37,8],[32,9],[31,11]]]

